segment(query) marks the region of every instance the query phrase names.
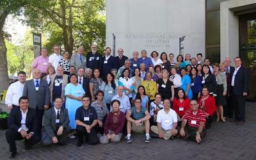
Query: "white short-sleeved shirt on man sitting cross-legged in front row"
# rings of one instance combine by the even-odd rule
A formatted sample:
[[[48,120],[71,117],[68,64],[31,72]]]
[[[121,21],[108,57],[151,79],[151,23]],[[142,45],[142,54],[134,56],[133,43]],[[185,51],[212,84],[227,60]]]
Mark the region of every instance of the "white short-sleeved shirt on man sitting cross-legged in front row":
[[[165,130],[172,129],[175,122],[178,122],[176,112],[170,108],[168,113],[165,113],[164,109],[161,109],[157,113],[156,122],[161,123],[161,127]]]

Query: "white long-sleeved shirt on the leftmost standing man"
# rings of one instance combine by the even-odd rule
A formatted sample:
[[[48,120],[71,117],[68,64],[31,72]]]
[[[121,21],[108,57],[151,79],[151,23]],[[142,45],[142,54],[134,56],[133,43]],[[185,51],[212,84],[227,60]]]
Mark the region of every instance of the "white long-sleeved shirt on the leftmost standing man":
[[[20,83],[20,81],[12,83],[6,92],[5,104],[7,106],[11,106],[12,104],[19,106],[19,99],[23,94],[23,89],[24,84]]]

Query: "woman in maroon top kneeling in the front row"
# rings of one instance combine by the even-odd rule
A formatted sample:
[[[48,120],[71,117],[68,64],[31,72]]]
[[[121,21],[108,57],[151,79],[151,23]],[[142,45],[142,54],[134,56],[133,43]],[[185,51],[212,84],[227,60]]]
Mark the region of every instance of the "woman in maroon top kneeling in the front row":
[[[120,101],[111,102],[113,111],[108,114],[104,122],[104,134],[100,136],[100,143],[107,144],[109,141],[118,142],[122,138],[122,132],[125,124],[125,114],[119,110]]]

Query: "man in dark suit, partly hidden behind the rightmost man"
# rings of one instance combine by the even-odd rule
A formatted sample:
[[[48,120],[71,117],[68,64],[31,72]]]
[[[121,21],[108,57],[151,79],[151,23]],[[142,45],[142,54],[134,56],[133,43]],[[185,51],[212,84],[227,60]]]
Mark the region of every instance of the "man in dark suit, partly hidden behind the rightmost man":
[[[233,118],[234,108],[232,105],[232,97],[231,97],[231,79],[232,75],[235,71],[235,67],[230,66],[231,60],[229,57],[225,58],[225,74],[227,76],[227,106],[224,108],[224,115],[227,115],[229,118]]]

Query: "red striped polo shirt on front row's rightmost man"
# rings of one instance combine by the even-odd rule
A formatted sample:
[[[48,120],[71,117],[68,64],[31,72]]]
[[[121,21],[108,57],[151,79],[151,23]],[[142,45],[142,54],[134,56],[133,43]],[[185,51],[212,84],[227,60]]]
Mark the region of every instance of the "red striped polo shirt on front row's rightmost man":
[[[198,128],[198,126],[200,125],[200,122],[204,122],[205,124],[206,115],[205,115],[205,112],[201,111],[200,109],[198,109],[196,114],[193,113],[192,109],[189,109],[188,111],[186,111],[184,115],[184,120],[188,120],[187,124],[189,126]]]

